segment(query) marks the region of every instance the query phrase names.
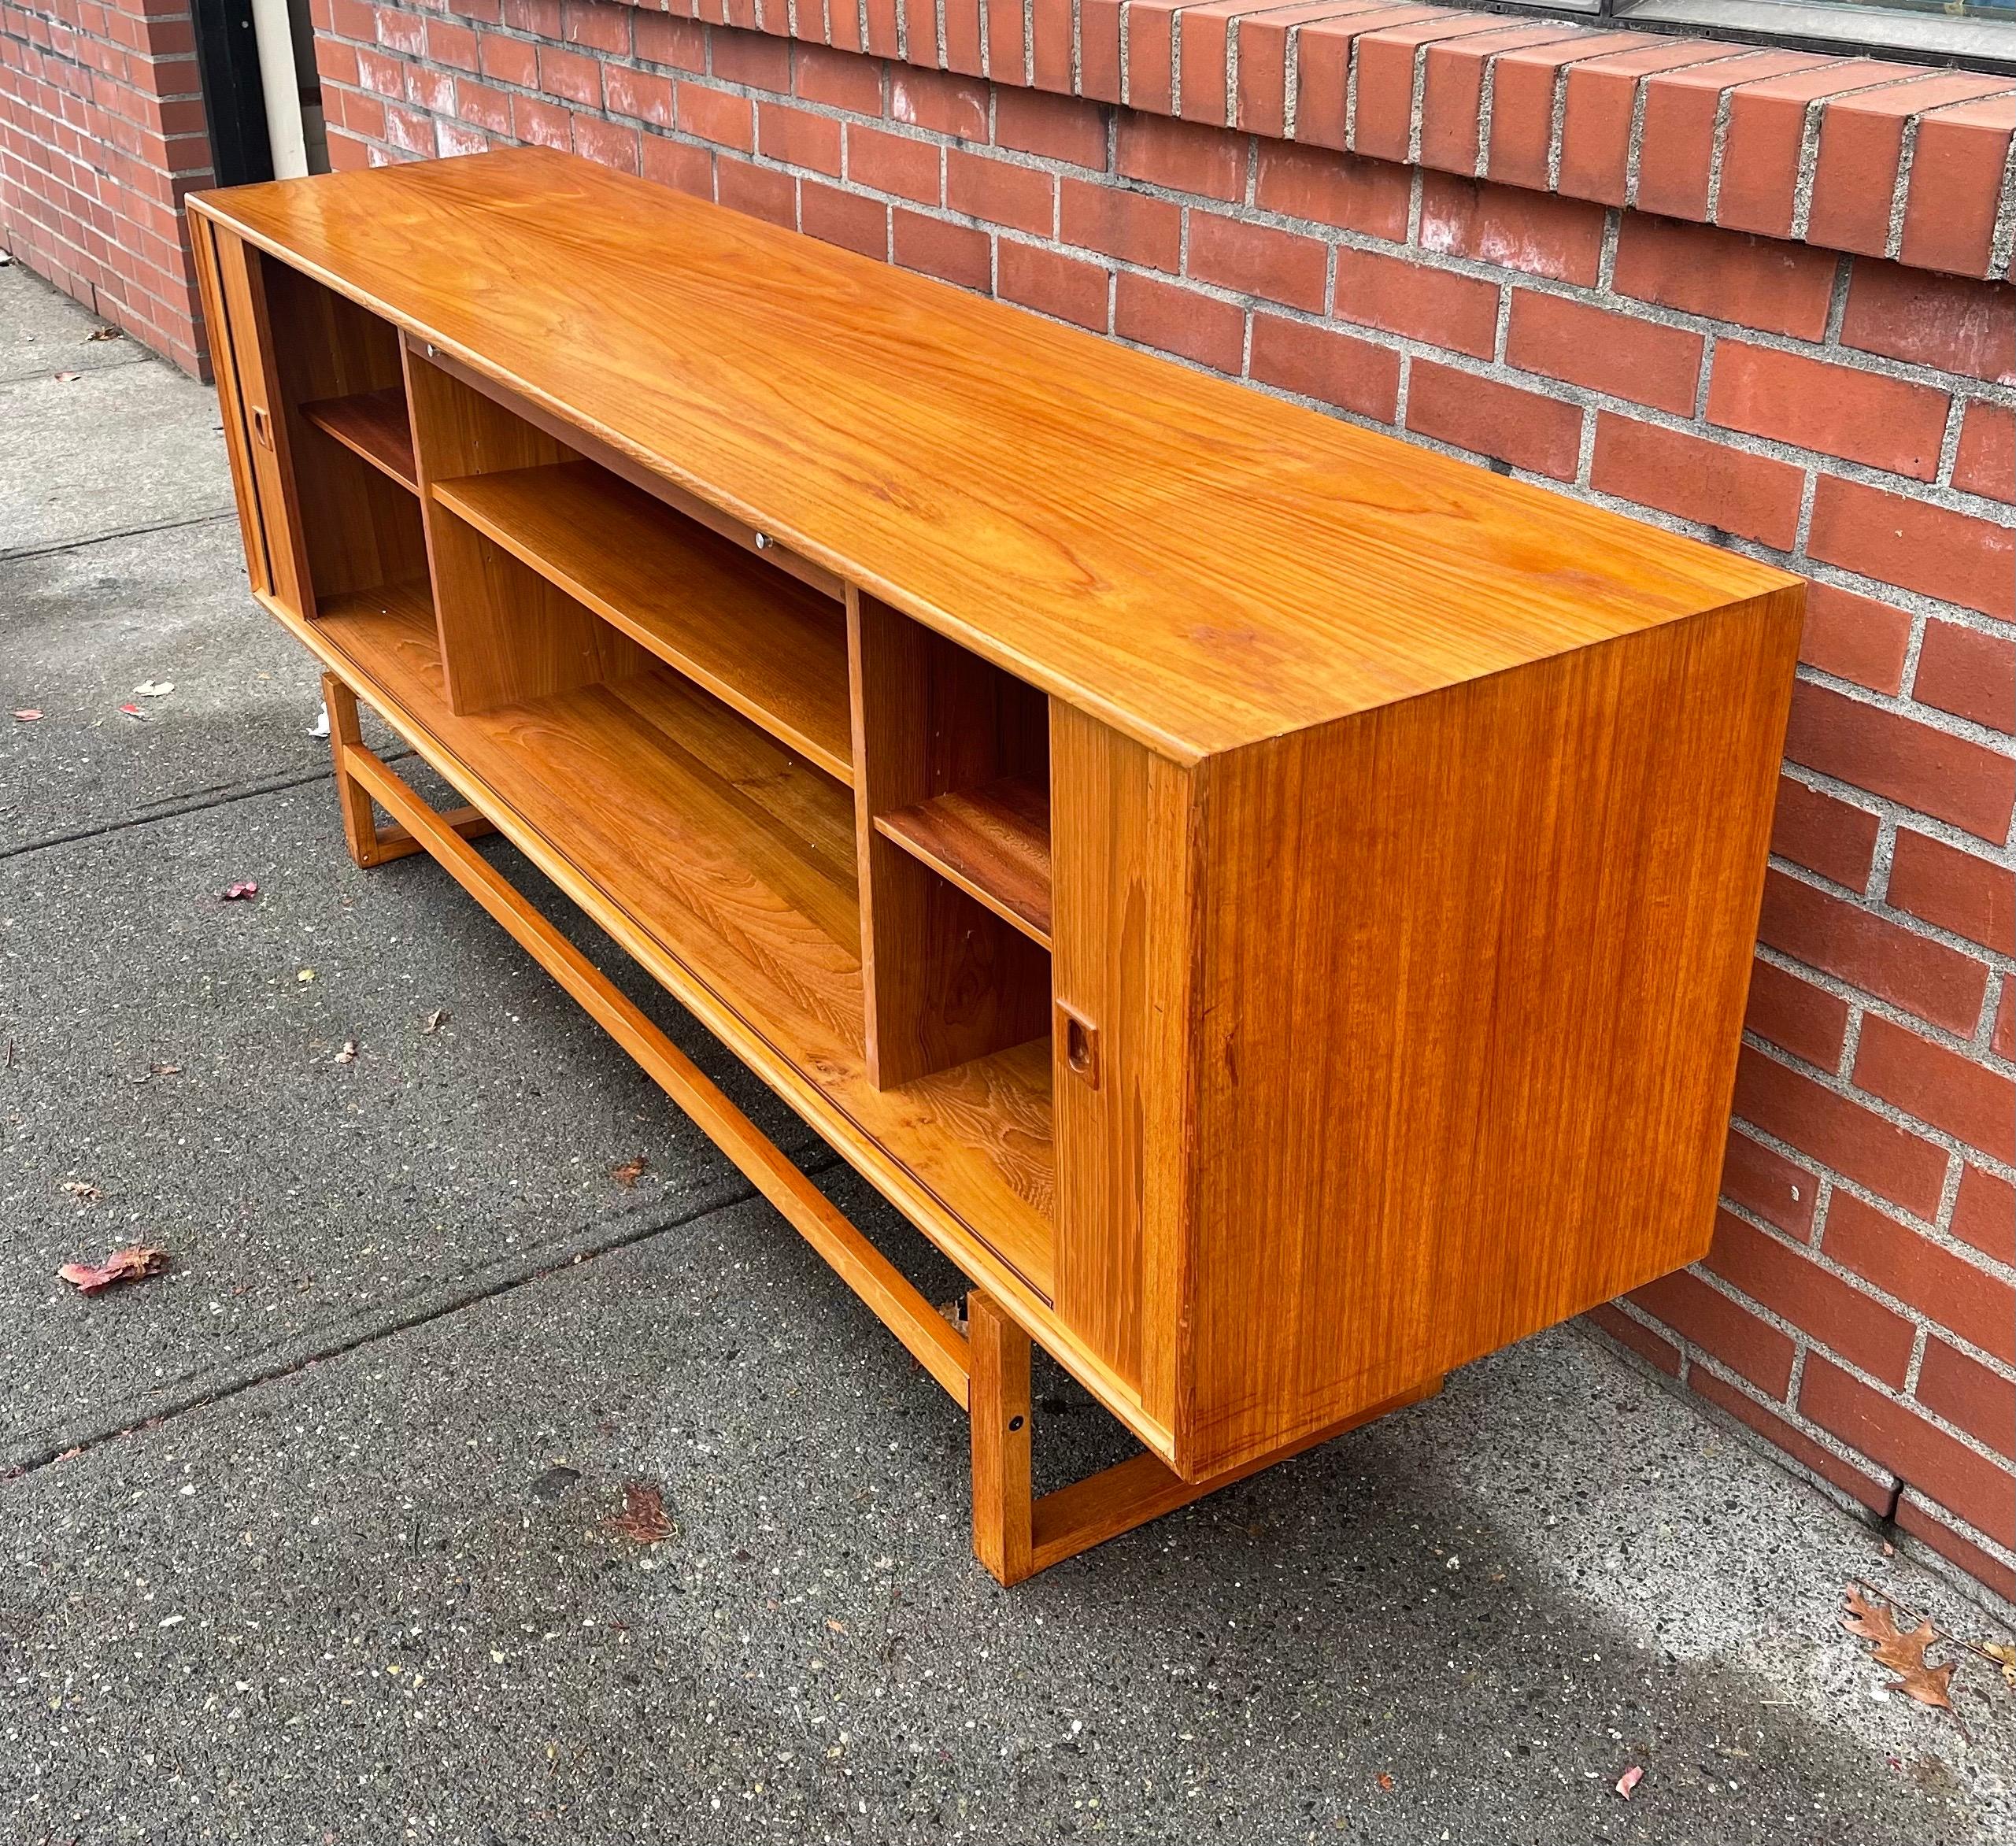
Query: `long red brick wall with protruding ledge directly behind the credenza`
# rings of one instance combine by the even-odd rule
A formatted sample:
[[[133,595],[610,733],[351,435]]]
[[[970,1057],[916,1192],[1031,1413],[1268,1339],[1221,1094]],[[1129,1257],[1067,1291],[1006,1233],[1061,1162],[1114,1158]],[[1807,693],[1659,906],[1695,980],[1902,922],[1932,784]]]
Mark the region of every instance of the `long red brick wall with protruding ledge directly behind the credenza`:
[[[1597,1322],[2016,1592],[2016,81],[762,4],[317,0],[337,163],[575,147],[1812,578],[1722,1231]]]

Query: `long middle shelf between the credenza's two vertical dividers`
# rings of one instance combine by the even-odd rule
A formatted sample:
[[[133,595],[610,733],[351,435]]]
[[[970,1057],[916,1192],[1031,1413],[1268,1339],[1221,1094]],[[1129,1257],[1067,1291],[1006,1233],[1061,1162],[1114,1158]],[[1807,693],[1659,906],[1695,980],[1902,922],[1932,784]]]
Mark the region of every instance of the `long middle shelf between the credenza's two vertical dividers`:
[[[593,462],[433,498],[829,776],[853,782],[839,605]]]

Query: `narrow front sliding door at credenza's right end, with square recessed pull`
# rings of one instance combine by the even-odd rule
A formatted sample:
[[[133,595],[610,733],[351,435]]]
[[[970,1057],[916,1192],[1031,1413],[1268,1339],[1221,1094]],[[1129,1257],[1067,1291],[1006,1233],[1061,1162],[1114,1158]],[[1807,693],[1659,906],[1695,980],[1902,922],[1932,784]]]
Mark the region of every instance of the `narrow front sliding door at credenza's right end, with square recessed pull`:
[[[1191,1171],[1191,814],[1185,770],[1050,703],[1056,1310],[1165,1427]],[[1073,1022],[1097,1038],[1091,1072]]]

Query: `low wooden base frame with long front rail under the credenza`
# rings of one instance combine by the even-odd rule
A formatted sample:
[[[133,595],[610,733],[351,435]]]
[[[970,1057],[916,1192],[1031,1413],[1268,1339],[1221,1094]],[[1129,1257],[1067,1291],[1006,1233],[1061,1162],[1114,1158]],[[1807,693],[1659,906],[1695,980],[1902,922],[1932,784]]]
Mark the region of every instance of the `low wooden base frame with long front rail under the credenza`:
[[[385,865],[411,852],[437,859],[694,1118],[968,1413],[974,1554],[1002,1584],[1018,1584],[1441,1389],[1441,1378],[1431,1378],[1278,1453],[1204,1481],[1185,1481],[1159,1457],[1143,1453],[1038,1499],[1030,1471],[1034,1348],[1028,1332],[984,1290],[966,1298],[968,1332],[952,1326],[685,1052],[470,846],[472,838],[494,830],[490,822],[476,808],[435,812],[365,746],[357,723],[357,693],[339,675],[323,675],[323,697],[329,705],[329,746],[343,802],[343,832],[357,865]],[[379,826],[373,804],[391,814],[391,826]]]

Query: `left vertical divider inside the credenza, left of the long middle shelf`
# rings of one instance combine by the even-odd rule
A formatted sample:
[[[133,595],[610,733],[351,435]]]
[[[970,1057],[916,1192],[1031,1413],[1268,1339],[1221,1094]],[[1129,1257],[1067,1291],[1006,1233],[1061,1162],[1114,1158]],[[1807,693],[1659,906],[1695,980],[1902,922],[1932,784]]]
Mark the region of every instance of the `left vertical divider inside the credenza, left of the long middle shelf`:
[[[429,365],[411,339],[405,401],[450,709],[490,711],[641,671],[645,649],[433,498],[439,480],[571,462],[575,451]]]

